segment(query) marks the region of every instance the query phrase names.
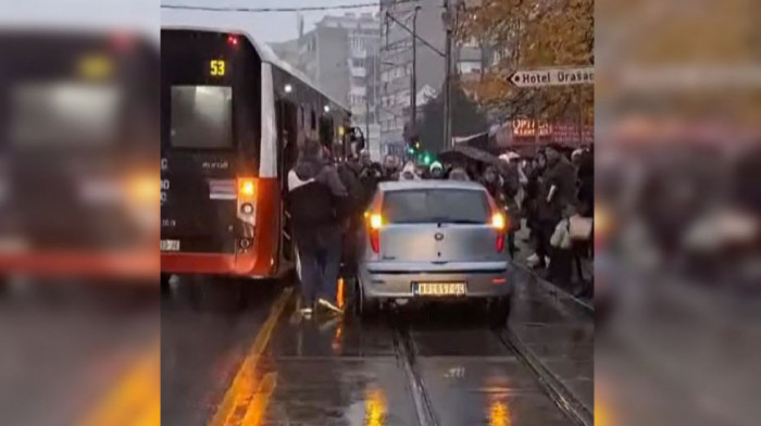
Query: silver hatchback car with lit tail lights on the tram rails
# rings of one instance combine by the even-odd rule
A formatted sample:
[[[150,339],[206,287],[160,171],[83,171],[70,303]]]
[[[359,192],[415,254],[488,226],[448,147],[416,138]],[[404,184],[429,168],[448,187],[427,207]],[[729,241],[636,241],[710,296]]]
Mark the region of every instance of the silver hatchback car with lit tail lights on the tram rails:
[[[504,253],[508,226],[504,213],[478,184],[380,184],[360,239],[359,313],[389,300],[478,298],[495,321],[506,321],[512,293]]]

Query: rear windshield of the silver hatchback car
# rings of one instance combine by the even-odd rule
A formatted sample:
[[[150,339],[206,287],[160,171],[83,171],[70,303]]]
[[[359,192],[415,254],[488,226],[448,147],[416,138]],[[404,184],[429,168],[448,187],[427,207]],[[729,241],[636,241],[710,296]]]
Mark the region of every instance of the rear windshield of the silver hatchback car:
[[[415,189],[389,191],[383,198],[389,223],[486,223],[489,205],[484,191],[473,189]]]

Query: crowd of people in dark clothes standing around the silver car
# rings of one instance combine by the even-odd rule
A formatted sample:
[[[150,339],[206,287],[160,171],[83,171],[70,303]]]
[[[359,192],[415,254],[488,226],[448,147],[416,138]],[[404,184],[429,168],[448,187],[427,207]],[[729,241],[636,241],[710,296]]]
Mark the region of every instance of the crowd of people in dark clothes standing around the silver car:
[[[307,141],[288,173],[287,197],[300,260],[300,310],[304,315],[316,309],[342,312],[336,300],[336,286],[341,264],[347,268],[354,266],[352,253],[358,242],[352,238],[355,233],[350,230],[362,225],[362,214],[377,185],[387,180],[481,183],[510,217],[511,258],[517,251],[515,231],[525,218],[535,250],[527,259],[528,264],[545,268],[548,279],[567,286],[573,260],[583,278],[578,262],[591,255],[591,248],[588,239],[574,240],[571,247],[552,243],[553,236],[558,228],[569,227],[572,216],[591,218],[592,173],[591,151],[576,150],[569,155],[559,146],[548,146],[532,159],[508,152],[491,164],[434,162],[419,167],[412,161],[402,164],[395,155],[386,155],[382,163],[376,163],[366,150],[338,162],[317,141]],[[590,286],[581,291],[590,291]]]

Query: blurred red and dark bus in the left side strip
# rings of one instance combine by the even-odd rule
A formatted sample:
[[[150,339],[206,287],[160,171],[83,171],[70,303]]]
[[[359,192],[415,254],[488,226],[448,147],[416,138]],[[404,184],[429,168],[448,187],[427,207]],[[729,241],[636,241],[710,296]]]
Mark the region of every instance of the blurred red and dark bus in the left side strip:
[[[155,277],[155,42],[9,29],[0,63],[0,271]]]

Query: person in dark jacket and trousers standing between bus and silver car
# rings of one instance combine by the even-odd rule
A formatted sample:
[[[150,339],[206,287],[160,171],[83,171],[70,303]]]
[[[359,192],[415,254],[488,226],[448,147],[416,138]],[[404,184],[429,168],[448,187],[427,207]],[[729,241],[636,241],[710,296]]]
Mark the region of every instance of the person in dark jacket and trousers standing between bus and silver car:
[[[340,206],[348,192],[336,168],[323,159],[322,147],[307,140],[288,172],[288,203],[299,254],[303,315],[315,306],[340,312],[336,278],[340,261]],[[335,271],[334,271],[335,270]]]

